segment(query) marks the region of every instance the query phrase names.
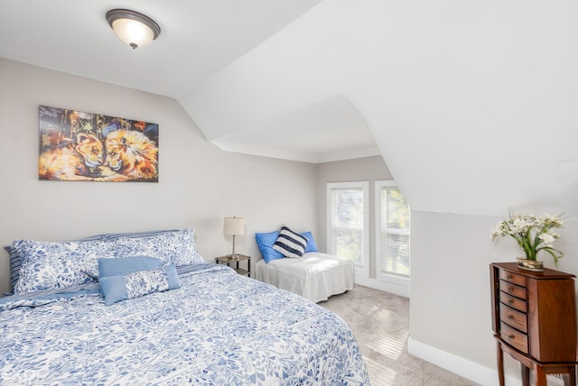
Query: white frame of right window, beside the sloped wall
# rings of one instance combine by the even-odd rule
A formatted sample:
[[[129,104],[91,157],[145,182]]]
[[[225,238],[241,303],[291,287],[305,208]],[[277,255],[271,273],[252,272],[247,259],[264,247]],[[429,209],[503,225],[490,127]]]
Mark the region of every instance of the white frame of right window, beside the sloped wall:
[[[381,188],[397,188],[396,181],[391,180],[384,180],[384,181],[376,181],[375,182],[375,191],[374,191],[374,198],[375,198],[375,240],[376,240],[376,253],[375,253],[375,266],[376,266],[376,279],[379,281],[384,281],[389,284],[393,284],[395,286],[400,286],[406,289],[409,289],[411,283],[411,269],[410,269],[410,276],[405,275],[398,275],[395,273],[387,273],[381,269]],[[411,212],[410,212],[411,216]],[[411,226],[411,225],[410,225]],[[409,232],[401,231],[399,234],[407,234],[411,237],[411,229]],[[411,262],[411,252],[410,252],[410,262]],[[411,263],[410,263],[411,265]]]

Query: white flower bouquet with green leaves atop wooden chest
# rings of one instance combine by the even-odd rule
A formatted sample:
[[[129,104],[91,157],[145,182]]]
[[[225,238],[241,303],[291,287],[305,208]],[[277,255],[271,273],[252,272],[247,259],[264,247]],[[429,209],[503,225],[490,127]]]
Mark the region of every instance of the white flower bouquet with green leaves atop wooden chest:
[[[564,257],[564,253],[555,249],[552,245],[560,237],[554,230],[562,228],[564,222],[558,216],[510,216],[507,220],[500,221],[491,232],[491,239],[511,236],[526,254],[526,259],[536,261],[536,255],[540,251],[550,253],[554,258],[556,267],[558,261]]]

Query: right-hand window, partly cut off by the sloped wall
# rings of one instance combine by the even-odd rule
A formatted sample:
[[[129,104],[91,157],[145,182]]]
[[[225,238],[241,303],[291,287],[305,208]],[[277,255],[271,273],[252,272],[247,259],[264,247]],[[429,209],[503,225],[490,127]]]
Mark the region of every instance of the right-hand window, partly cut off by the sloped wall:
[[[394,181],[376,181],[377,279],[409,279],[410,210]]]

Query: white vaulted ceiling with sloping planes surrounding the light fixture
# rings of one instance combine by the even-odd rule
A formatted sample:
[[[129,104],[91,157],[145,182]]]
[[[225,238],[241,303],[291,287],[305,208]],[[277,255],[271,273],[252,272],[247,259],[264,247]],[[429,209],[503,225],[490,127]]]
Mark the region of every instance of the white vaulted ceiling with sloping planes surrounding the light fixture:
[[[161,36],[132,51],[104,19],[117,7]],[[6,0],[0,57],[174,97],[224,150],[379,153],[413,209],[504,215],[578,192],[577,16],[574,0]]]

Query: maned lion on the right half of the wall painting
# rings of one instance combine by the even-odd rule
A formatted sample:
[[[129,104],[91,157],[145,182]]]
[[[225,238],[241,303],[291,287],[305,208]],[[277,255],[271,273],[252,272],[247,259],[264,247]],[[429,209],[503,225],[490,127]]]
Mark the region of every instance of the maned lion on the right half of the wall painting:
[[[157,145],[144,133],[119,129],[105,137],[103,174],[107,181],[158,181]],[[113,171],[107,173],[104,168]]]

